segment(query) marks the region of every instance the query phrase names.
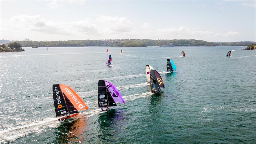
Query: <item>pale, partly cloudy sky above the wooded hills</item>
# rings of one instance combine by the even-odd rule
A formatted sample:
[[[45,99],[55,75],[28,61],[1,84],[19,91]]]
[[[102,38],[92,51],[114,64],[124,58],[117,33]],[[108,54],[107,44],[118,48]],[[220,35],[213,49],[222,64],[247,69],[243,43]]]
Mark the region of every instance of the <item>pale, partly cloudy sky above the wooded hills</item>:
[[[256,0],[0,0],[0,39],[25,38],[256,41]]]

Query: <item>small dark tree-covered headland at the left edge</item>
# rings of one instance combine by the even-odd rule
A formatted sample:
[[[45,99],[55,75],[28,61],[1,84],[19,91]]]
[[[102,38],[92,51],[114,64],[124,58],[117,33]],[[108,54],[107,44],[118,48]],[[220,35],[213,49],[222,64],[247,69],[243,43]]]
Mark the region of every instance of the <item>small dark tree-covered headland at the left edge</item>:
[[[0,52],[23,52],[25,51],[20,43],[9,43],[7,46],[5,44],[0,44]]]

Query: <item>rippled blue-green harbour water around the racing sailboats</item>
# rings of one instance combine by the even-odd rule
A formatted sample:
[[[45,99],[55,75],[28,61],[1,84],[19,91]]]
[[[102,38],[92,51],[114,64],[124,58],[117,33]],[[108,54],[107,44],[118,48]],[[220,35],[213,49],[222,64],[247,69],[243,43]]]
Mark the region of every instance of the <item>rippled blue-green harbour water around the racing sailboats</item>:
[[[228,58],[233,47],[108,47],[112,68],[107,47],[1,53],[0,143],[255,143],[256,51],[235,48]],[[167,58],[176,72],[164,72]],[[160,72],[161,92],[149,92],[145,65]],[[99,79],[125,104],[100,113]],[[70,86],[89,109],[59,124],[52,84]]]

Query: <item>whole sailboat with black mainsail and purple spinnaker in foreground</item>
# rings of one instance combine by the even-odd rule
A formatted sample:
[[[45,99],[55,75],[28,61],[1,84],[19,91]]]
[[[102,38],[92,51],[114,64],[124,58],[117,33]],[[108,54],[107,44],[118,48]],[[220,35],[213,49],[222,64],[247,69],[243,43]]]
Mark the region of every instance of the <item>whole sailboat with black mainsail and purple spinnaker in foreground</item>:
[[[106,112],[110,110],[110,107],[116,106],[117,102],[124,103],[124,100],[115,85],[104,80],[99,80],[98,107],[100,111]]]

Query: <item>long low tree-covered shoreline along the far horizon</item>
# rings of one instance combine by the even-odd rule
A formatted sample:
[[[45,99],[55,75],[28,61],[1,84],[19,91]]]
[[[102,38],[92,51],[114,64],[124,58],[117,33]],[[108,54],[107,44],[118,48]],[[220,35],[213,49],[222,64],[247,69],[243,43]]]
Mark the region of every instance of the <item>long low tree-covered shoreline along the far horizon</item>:
[[[195,39],[108,39],[108,40],[68,40],[68,41],[15,41],[23,47],[50,46],[117,46],[117,47],[146,47],[146,46],[248,46],[256,42],[206,42]],[[10,44],[10,43],[8,43]]]

